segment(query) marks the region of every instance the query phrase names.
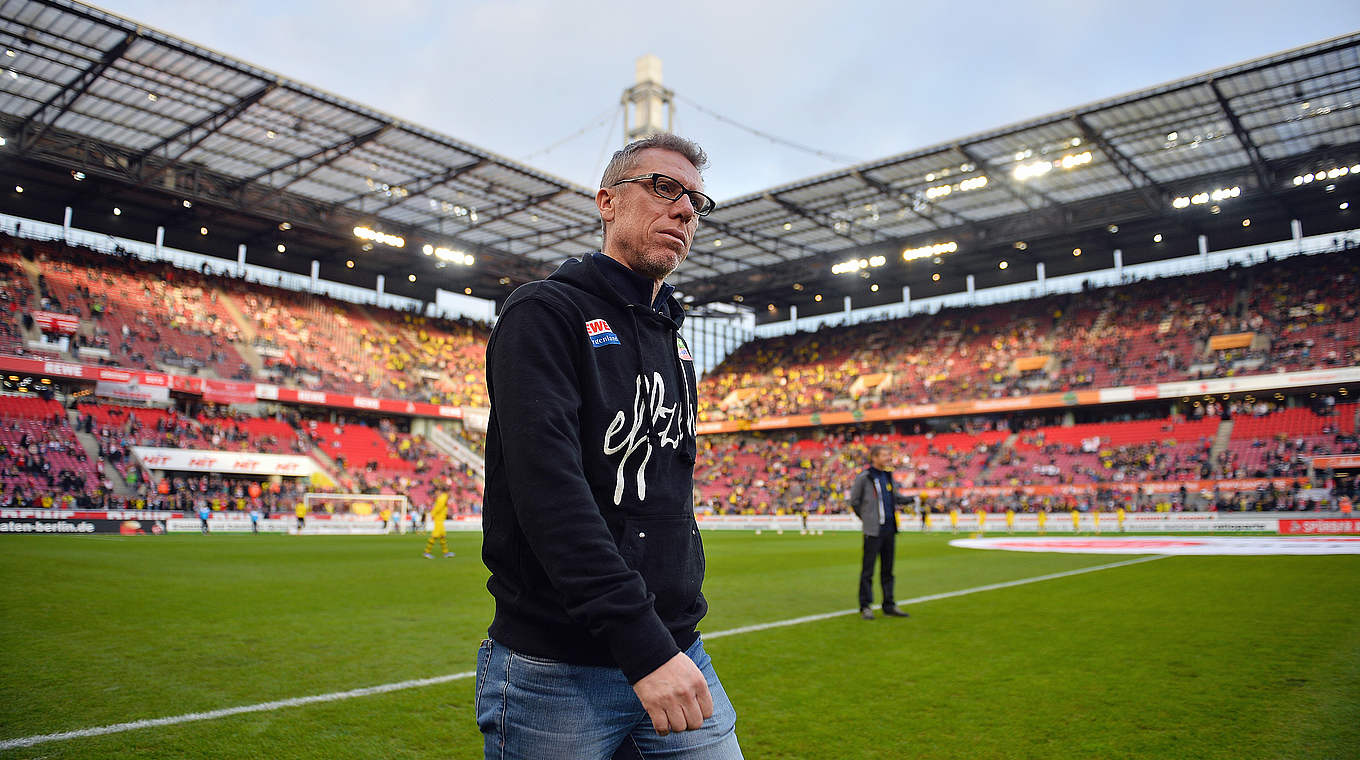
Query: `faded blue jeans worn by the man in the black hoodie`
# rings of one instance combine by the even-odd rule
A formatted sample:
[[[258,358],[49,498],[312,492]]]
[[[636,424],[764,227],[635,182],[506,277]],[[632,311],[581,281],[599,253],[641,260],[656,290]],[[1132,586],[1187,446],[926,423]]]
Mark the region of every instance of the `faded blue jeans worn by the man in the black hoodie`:
[[[623,670],[528,657],[491,639],[481,642],[476,710],[487,760],[740,760],[737,712],[703,640],[695,639],[685,655],[709,681],[713,718],[698,730],[662,737]]]

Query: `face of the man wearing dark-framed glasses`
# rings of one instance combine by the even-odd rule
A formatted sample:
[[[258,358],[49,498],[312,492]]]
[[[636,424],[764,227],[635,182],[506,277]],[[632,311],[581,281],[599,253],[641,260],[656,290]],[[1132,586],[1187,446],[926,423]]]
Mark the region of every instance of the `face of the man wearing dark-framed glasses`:
[[[690,190],[703,190],[699,170],[683,155],[664,148],[649,148],[636,156],[628,177],[665,174]],[[685,256],[699,227],[699,215],[688,196],[668,201],[651,190],[651,181],[626,182],[601,188],[596,193],[600,218],[609,224],[605,256],[628,269],[664,280]]]

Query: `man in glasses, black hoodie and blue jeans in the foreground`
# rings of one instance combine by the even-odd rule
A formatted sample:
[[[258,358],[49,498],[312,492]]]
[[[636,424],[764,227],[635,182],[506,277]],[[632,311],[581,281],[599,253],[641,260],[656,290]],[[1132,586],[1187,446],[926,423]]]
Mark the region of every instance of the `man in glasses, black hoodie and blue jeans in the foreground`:
[[[698,396],[664,281],[713,209],[706,163],[673,135],[616,152],[602,252],[518,288],[487,344],[487,757],[741,757],[695,629]]]

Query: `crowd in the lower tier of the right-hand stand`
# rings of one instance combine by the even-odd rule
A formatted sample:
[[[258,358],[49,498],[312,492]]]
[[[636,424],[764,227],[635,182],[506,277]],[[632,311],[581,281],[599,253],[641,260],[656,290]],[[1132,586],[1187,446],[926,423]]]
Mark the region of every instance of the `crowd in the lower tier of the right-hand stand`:
[[[1172,487],[1171,496],[1157,498],[1141,489],[1114,488],[1117,484],[1185,483],[1224,479],[1303,479],[1310,458],[1319,454],[1360,453],[1357,404],[1315,405],[1314,409],[1284,409],[1274,402],[1236,402],[1246,419],[1303,430],[1299,413],[1315,417],[1318,435],[1284,431],[1268,436],[1248,435],[1242,443],[1263,454],[1244,462],[1232,449],[1212,455],[1219,420],[1161,419],[1141,423],[1130,434],[1130,423],[1085,424],[1073,428],[1038,424],[1010,435],[990,423],[942,434],[804,435],[753,434],[710,435],[700,439],[695,468],[695,500],[715,514],[777,514],[845,511],[845,499],[855,473],[864,469],[870,446],[885,445],[899,460],[895,473],[899,487],[922,489],[968,489],[1004,487],[1006,496],[970,500],[963,496],[925,496],[922,507],[964,508],[1092,508],[1122,506],[1127,510],[1153,508],[1303,508],[1289,492],[1270,495],[1266,488],[1251,494],[1183,494]],[[1231,413],[1231,409],[1224,409]],[[989,430],[991,428],[991,430]],[[1142,436],[1141,441],[1121,439]],[[1176,436],[1189,436],[1178,439]],[[1321,476],[1321,473],[1315,473]],[[1044,494],[1025,496],[1024,487],[1077,485],[1072,491],[1091,494]],[[1350,488],[1355,484],[1342,484]],[[1185,491],[1182,487],[1180,491]],[[967,502],[967,503],[966,503]]]

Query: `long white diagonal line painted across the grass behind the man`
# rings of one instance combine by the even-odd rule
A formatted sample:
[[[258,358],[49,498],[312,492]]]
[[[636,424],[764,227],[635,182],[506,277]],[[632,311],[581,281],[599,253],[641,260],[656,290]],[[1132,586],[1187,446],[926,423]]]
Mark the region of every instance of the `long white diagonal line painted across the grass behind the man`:
[[[948,600],[952,597],[963,597],[967,594],[976,594],[981,591],[994,591],[997,589],[1009,589],[1012,586],[1024,586],[1027,583],[1039,583],[1040,581],[1054,581],[1057,578],[1069,578],[1072,575],[1083,575],[1087,572],[1096,572],[1099,570],[1110,570],[1114,567],[1125,567],[1130,564],[1138,564],[1144,562],[1152,562],[1159,559],[1166,559],[1167,555],[1153,555],[1132,560],[1114,562],[1108,564],[1098,564],[1092,567],[1083,567],[1078,570],[1068,570],[1064,572],[1051,572],[1049,575],[1035,575],[1034,578],[1021,578],[1019,581],[1005,581],[1002,583],[989,583],[986,586],[975,586],[972,589],[960,589],[957,591],[944,591],[941,594],[929,594],[925,597],[915,597],[911,600],[904,600],[902,605],[908,604],[922,604],[936,600]],[[740,628],[729,628],[726,631],[715,631],[713,634],[703,634],[703,639],[721,639],[724,636],[737,636],[740,634],[753,634],[758,631],[768,631],[771,628],[785,628],[789,625],[801,625],[802,623],[815,623],[817,620],[828,620],[831,617],[840,617],[845,615],[851,615],[860,612],[858,609],[842,609],[838,612],[824,612],[821,615],[806,615],[804,617],[792,617],[789,620],[777,620],[774,623],[759,623],[756,625],[743,625]],[[80,729],[76,731],[60,731],[54,734],[35,734],[31,737],[19,737],[0,741],[0,750],[16,749],[20,746],[33,746],[37,744],[46,744],[52,741],[67,741],[72,738],[87,738],[87,737],[102,737],[107,734],[117,734],[122,731],[132,731],[136,729],[150,729],[155,726],[174,726],[178,723],[193,723],[196,721],[215,721],[218,718],[228,718],[231,715],[242,715],[246,712],[267,712],[271,710],[280,710],[284,707],[301,707],[303,704],[317,704],[322,702],[340,702],[345,699],[355,699],[360,696],[373,696],[378,693],[398,692],[404,689],[416,689],[420,687],[432,687],[435,684],[447,684],[450,681],[461,681],[464,678],[472,678],[476,672],[468,670],[464,673],[450,673],[447,676],[435,676],[432,678],[415,678],[411,681],[397,681],[394,684],[381,684],[377,687],[364,687],[360,689],[350,689],[347,692],[330,692],[318,693],[314,696],[299,696],[294,699],[280,699],[275,702],[261,702],[260,704],[245,704],[241,707],[227,707],[223,710],[211,710],[208,712],[186,712],[184,715],[170,715],[167,718],[150,718],[146,721],[131,721],[128,723],[113,723],[109,726],[95,726],[92,729]]]

